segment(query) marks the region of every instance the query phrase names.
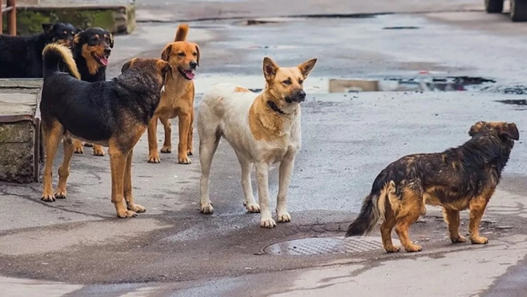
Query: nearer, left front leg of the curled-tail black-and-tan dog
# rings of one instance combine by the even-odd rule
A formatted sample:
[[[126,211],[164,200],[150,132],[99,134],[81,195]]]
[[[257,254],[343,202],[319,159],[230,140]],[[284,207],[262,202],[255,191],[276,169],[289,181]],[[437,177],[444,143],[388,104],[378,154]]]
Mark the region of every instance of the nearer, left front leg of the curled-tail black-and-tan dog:
[[[124,173],[126,169],[126,158],[128,152],[123,153],[118,147],[110,143],[108,148],[110,154],[110,168],[112,171],[112,202],[119,218],[130,218],[137,214],[126,209],[124,200]]]

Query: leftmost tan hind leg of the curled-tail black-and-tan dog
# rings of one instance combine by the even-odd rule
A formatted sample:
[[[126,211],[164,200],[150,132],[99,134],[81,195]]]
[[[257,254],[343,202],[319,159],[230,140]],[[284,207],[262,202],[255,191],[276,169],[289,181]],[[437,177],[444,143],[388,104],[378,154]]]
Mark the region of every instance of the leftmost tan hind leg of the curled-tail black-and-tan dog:
[[[46,149],[46,161],[44,163],[44,189],[42,191],[42,201],[53,202],[55,201],[55,195],[53,194],[52,176],[53,176],[53,160],[57,152],[58,143],[62,137],[63,127],[57,121],[54,120],[52,123],[42,124],[42,134],[44,137],[44,146]]]

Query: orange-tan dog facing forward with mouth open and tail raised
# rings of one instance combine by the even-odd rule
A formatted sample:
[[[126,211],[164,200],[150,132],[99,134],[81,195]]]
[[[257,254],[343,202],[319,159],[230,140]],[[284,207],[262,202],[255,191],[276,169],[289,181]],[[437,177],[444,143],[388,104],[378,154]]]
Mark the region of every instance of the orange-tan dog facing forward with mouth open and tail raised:
[[[148,162],[159,163],[157,128],[158,119],[164,126],[164,144],[161,152],[172,151],[172,125],[170,119],[179,118],[178,162],[190,164],[192,155],[192,130],[194,122],[194,70],[199,66],[199,47],[187,42],[189,26],[179,25],[173,43],[164,47],[161,58],[178,70],[175,78],[168,78],[166,91],[148,126]]]

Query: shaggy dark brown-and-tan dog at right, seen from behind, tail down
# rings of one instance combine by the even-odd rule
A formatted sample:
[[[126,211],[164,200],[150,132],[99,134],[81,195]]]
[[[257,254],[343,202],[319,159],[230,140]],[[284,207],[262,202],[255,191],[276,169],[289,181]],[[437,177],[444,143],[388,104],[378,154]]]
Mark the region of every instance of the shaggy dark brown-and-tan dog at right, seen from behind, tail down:
[[[421,251],[408,238],[408,228],[425,214],[425,204],[431,204],[443,207],[452,243],[466,241],[459,233],[460,211],[465,209],[470,209],[471,242],[489,242],[478,232],[481,218],[520,135],[513,123],[484,121],[472,126],[469,135],[462,146],[405,156],[380,171],[346,237],[367,234],[382,221],[387,252],[399,251],[392,243],[393,227],[407,252]]]

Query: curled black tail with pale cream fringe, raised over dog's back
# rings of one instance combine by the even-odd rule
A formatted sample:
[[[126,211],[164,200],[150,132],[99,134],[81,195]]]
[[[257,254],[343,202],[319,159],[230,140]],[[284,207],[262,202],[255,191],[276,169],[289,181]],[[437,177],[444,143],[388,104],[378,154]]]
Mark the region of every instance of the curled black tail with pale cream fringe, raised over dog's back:
[[[73,54],[69,48],[64,45],[51,43],[44,47],[42,51],[44,78],[59,72],[58,65],[65,65],[67,72],[76,79],[81,79],[77,64],[73,59]]]

